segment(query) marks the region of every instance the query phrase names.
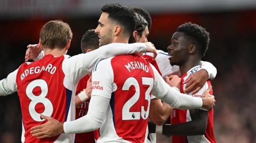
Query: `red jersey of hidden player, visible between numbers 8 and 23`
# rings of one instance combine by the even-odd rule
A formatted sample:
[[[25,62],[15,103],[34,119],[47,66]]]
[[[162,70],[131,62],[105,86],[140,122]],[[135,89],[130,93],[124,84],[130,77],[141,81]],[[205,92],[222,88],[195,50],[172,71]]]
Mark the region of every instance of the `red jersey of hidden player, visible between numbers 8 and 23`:
[[[89,75],[84,76],[76,87],[76,95],[87,87],[87,81],[90,78]],[[76,119],[83,117],[88,112],[90,99],[81,104],[76,108]],[[93,132],[84,132],[76,134],[76,143],[95,143]]]

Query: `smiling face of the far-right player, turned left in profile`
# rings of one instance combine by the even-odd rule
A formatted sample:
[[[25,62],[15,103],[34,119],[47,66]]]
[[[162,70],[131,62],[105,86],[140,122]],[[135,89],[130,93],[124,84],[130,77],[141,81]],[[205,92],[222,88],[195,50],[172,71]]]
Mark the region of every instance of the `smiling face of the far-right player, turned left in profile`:
[[[171,65],[182,65],[189,57],[188,42],[183,32],[175,32],[172,35],[172,44],[168,46],[168,54]]]

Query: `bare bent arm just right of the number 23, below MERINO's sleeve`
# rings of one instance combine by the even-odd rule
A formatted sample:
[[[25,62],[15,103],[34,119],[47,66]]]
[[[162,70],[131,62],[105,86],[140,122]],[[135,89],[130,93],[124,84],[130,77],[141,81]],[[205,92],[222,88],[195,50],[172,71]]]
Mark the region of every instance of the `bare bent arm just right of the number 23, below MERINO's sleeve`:
[[[170,117],[172,109],[169,104],[162,102],[160,99],[151,99],[149,109],[150,121],[158,126],[162,125]]]

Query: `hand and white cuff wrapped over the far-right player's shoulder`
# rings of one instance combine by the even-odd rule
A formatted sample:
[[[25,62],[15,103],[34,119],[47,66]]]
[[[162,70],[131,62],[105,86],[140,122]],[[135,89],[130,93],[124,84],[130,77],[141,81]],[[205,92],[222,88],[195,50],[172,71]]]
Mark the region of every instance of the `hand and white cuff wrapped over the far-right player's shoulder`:
[[[201,70],[192,73],[183,84],[186,84],[185,93],[197,93],[203,86],[207,79],[214,79],[217,74],[217,69],[210,62],[201,61]]]

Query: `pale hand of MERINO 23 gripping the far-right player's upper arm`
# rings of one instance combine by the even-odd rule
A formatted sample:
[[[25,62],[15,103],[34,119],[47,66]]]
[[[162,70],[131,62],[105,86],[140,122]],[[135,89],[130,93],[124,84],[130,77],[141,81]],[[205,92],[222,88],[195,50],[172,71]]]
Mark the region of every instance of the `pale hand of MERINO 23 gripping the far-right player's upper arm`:
[[[215,99],[213,95],[210,95],[209,92],[212,90],[212,86],[210,86],[203,95],[201,96],[203,100],[203,106],[205,109],[212,109],[213,106],[215,106]]]

